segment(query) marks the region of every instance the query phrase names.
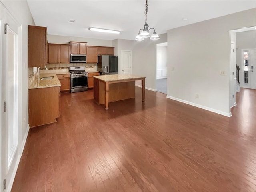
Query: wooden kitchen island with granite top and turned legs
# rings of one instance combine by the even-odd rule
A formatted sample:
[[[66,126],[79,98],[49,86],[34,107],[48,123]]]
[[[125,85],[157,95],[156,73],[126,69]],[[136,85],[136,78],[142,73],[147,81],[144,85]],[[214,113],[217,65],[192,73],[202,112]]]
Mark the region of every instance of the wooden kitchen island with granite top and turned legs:
[[[132,74],[100,75],[94,77],[94,100],[97,104],[105,104],[108,110],[108,103],[134,98],[135,81],[141,80],[142,102],[145,101],[145,76]]]

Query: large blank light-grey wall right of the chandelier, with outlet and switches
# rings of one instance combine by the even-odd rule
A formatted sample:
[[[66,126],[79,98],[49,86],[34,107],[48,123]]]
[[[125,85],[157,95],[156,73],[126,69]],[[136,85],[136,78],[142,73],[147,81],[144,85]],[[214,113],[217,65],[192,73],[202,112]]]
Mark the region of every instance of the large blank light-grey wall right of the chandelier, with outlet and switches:
[[[230,30],[255,25],[254,8],[168,30],[168,97],[229,116]]]

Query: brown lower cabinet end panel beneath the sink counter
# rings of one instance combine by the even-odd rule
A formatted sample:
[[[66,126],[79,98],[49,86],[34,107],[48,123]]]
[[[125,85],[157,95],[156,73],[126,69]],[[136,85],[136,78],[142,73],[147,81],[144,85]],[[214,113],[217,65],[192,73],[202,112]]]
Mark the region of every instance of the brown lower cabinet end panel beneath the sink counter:
[[[60,117],[60,87],[29,89],[28,114],[30,128],[56,122]]]

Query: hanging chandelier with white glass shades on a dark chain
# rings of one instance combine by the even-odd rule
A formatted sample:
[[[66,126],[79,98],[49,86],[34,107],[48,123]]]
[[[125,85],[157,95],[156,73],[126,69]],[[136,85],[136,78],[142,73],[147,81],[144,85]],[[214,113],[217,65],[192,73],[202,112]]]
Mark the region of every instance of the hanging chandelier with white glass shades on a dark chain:
[[[150,28],[148,29],[148,23],[147,23],[147,13],[148,13],[148,0],[146,0],[146,8],[145,8],[145,15],[146,15],[146,19],[145,19],[145,25],[144,25],[144,29],[140,29],[138,35],[136,36],[135,40],[137,41],[143,41],[144,38],[148,38],[149,35],[149,31],[150,29],[154,29],[154,28]],[[142,32],[140,32],[142,30]],[[150,36],[150,40],[158,40],[160,39],[159,35],[156,33],[156,30],[154,29],[153,34]]]

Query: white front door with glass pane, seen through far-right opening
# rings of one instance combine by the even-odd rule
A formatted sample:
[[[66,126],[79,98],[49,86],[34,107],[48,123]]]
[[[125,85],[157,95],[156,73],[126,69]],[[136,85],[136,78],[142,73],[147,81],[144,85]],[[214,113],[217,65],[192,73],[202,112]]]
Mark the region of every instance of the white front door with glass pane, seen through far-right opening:
[[[256,49],[242,50],[243,87],[256,89]]]

